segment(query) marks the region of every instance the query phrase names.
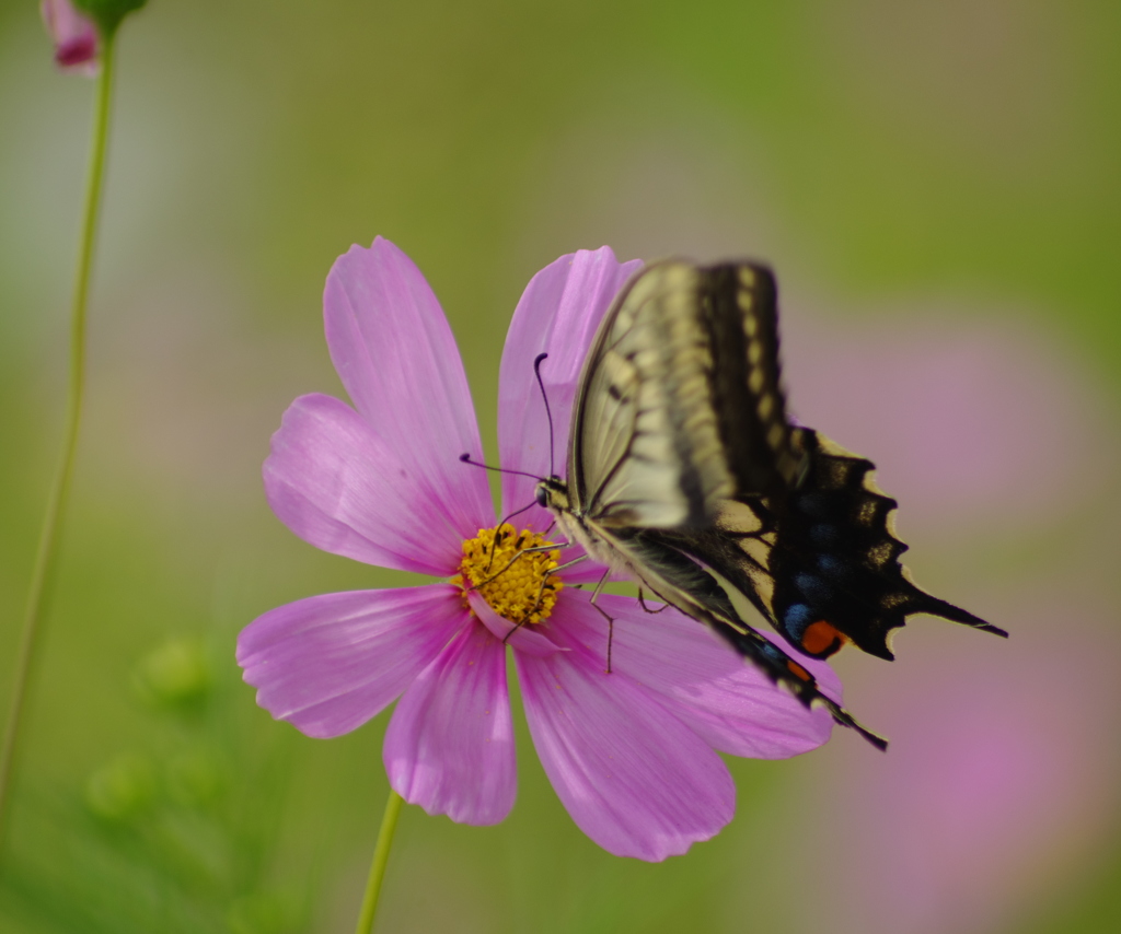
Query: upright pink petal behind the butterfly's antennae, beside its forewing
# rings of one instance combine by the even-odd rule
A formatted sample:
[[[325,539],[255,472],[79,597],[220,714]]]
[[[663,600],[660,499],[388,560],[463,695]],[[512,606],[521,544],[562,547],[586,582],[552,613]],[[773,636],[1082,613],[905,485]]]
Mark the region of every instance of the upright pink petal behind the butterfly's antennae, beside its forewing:
[[[568,421],[576,383],[595,329],[615,292],[642,265],[641,260],[620,263],[610,246],[568,253],[545,267],[526,287],[510,321],[499,374],[499,455],[503,467],[536,476],[549,473],[549,423],[541,391],[534,376],[534,359],[541,363],[541,380],[553,412],[553,473],[565,475]],[[536,482],[511,474],[502,476],[502,508],[512,511],[534,502]],[[534,506],[521,517],[530,529],[546,529],[548,513]]]

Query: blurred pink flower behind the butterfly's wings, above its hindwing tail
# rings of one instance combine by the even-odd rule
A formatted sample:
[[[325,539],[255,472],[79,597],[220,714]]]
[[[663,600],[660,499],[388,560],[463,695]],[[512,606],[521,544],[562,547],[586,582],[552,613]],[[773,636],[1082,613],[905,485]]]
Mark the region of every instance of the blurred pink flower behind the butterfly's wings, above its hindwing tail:
[[[1015,318],[784,324],[798,418],[876,463],[906,530],[1019,533],[1108,474],[1084,373]]]

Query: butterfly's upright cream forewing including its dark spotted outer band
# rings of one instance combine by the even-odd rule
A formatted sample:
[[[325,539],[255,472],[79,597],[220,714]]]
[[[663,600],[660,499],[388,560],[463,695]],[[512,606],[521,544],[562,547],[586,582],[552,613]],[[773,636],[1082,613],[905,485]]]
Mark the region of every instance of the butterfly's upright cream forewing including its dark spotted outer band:
[[[805,457],[779,376],[768,269],[647,267],[584,365],[568,449],[575,506],[612,527],[700,527],[736,493],[796,483]]]

